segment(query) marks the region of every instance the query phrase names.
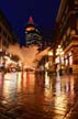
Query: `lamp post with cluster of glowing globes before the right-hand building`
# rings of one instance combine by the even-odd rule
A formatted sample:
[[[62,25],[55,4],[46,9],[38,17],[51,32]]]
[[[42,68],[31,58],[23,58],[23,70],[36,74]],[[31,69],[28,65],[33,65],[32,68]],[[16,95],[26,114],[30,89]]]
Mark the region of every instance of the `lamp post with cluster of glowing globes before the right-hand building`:
[[[62,75],[62,56],[64,55],[64,51],[63,47],[60,45],[58,45],[57,50],[56,50],[56,56],[58,56],[58,65],[59,65],[59,74]]]

